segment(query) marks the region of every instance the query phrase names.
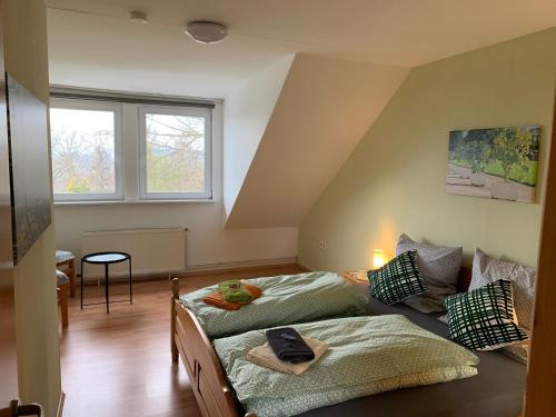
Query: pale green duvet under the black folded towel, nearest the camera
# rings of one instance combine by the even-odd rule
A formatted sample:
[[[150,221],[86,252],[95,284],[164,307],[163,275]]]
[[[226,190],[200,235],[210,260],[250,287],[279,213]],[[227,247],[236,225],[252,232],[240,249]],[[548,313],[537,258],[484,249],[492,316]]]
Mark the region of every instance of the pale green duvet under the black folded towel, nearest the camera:
[[[331,319],[292,326],[328,350],[299,376],[247,361],[265,330],[217,339],[215,349],[238,399],[258,417],[286,417],[403,387],[446,383],[477,374],[479,359],[404,316]]]

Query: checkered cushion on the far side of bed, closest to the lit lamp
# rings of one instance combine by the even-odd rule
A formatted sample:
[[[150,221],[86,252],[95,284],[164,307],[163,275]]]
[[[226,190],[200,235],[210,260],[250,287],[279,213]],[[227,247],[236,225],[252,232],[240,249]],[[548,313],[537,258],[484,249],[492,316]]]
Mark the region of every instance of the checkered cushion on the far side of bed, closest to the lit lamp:
[[[379,269],[369,270],[370,295],[393,305],[416,294],[425,292],[427,286],[417,268],[417,251],[404,252]]]

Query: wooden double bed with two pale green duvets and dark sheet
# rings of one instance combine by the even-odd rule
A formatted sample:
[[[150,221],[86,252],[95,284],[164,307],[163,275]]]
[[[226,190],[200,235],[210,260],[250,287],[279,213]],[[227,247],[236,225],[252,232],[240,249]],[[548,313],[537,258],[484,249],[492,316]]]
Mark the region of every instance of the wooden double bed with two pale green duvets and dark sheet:
[[[237,311],[180,297],[172,280],[172,360],[181,360],[210,417],[517,416],[525,366],[496,351],[448,341],[436,316],[367,297],[336,274],[258,278],[264,296]],[[463,269],[459,289],[469,284]],[[292,326],[329,344],[301,376],[245,360],[265,328]],[[445,384],[439,384],[445,383]]]

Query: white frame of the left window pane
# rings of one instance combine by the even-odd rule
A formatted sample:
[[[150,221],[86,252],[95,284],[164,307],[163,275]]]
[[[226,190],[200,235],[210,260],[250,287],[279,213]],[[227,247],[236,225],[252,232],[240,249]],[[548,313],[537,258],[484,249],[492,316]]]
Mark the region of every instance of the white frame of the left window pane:
[[[86,99],[61,99],[51,98],[50,109],[66,110],[92,110],[113,112],[113,160],[115,160],[115,192],[53,192],[54,202],[87,202],[87,201],[123,201],[125,199],[125,157],[123,157],[123,126],[122,126],[122,106],[119,102],[86,100]],[[51,136],[52,128],[49,133]],[[50,150],[50,160],[53,166],[52,151]],[[53,182],[53,177],[52,177]]]

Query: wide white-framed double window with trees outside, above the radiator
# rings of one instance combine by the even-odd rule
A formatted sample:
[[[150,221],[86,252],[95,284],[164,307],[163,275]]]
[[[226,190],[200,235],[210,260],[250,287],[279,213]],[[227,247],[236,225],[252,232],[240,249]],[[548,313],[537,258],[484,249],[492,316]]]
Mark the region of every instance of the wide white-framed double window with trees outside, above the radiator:
[[[54,90],[54,201],[211,200],[212,108]]]

